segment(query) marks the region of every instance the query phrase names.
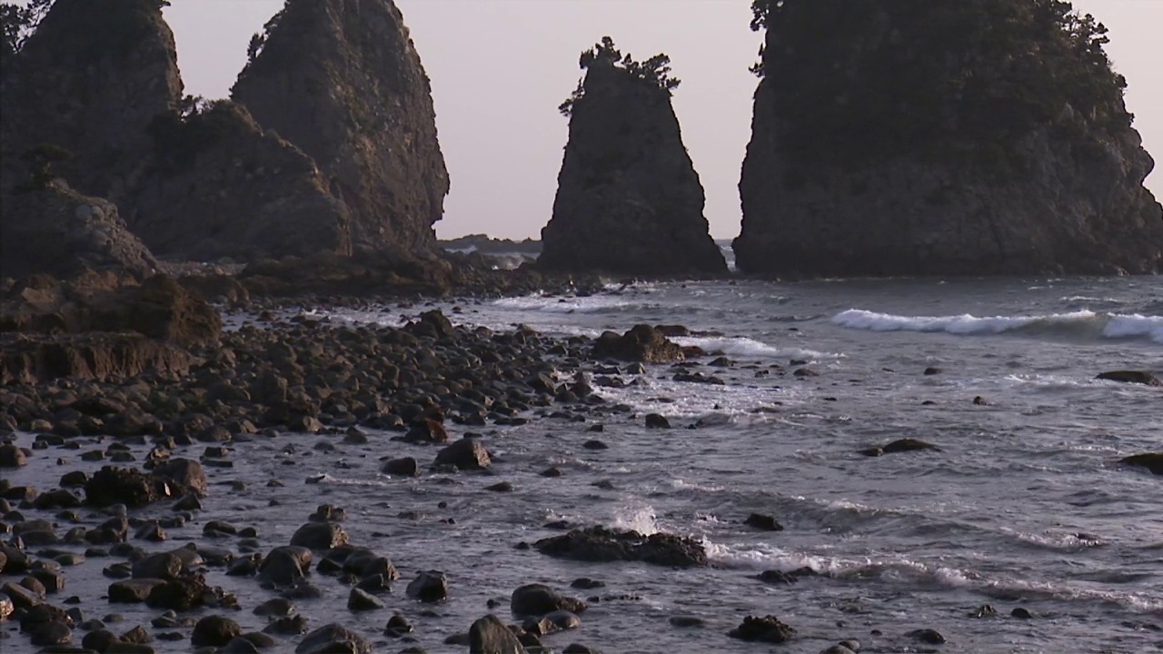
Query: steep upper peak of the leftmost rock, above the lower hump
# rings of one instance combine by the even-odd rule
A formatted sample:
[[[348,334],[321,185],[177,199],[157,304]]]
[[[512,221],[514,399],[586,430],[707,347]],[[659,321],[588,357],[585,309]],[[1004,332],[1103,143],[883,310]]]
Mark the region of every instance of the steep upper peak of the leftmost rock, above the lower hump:
[[[57,0],[5,67],[3,171],[51,143],[73,154],[59,170],[73,187],[115,202],[149,148],[144,126],[181,98],[173,34],[157,0]],[[5,177],[0,186],[19,182]]]

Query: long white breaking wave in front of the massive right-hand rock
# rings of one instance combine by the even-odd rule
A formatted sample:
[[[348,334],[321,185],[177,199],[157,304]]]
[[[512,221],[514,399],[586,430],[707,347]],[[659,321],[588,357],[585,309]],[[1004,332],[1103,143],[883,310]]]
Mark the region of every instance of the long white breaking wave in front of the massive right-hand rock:
[[[1049,334],[1090,339],[1140,339],[1163,343],[1163,317],[1075,311],[1046,315],[893,315],[861,308],[836,314],[833,325],[871,332],[944,332],[956,335]]]

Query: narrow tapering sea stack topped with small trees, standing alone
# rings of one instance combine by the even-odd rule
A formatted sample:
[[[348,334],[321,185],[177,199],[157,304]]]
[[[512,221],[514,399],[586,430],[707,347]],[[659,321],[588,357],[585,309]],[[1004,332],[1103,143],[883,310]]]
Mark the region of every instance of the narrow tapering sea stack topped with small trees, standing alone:
[[[671,107],[669,58],[622,57],[608,37],[562,105],[570,118],[537,265],[557,271],[708,276],[727,271]]]

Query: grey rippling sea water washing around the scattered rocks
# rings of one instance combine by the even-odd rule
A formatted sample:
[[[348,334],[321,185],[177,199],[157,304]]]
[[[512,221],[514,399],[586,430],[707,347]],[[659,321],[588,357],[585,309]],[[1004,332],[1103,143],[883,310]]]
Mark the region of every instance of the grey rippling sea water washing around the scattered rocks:
[[[450,424],[452,438],[483,434],[494,476],[385,477],[379,457],[434,454],[387,442],[388,433],[345,447],[340,460],[311,447],[323,436],[306,436],[293,455],[286,439],[234,446],[231,475],[252,490],[212,492],[206,514],[285,543],[316,504],[345,509],[352,542],[400,568],[385,600],[416,625],[428,652],[465,651],[443,638],[490,612],[490,599],[509,619],[509,593],[535,582],[607,598],[582,614],[579,630],[545,638],[557,651],[578,641],[607,654],[818,654],[843,639],[865,653],[1163,649],[1163,479],[1116,463],[1163,449],[1163,389],[1094,378],[1163,371],[1158,277],[612,284],[580,297],[305,311],[399,325],[433,307],[459,324],[562,337],[683,325],[695,335],[680,344],[712,353],[683,370],[722,383],[675,381],[670,364],[638,375],[623,365],[606,374],[614,385],[594,386],[626,413]],[[719,356],[727,361],[709,365]],[[645,428],[647,413],[673,428]],[[604,431],[590,432],[594,424]],[[582,447],[593,438],[608,449]],[[939,449],[859,454],[901,438]],[[297,465],[283,464],[288,456]],[[550,465],[563,476],[540,476]],[[26,475],[35,467],[13,482]],[[498,481],[515,491],[483,490]],[[742,524],[752,512],[783,531]],[[555,521],[691,535],[713,566],[583,563],[515,547],[561,533],[545,527]],[[779,585],[756,578],[805,567],[816,575]],[[448,575],[451,597],[424,613],[402,585],[429,569]],[[606,587],[569,588],[578,577]],[[250,580],[213,583],[244,606],[266,598]],[[343,606],[347,587],[316,583],[324,599],[300,603],[312,627],[383,630],[383,612]],[[976,617],[986,604],[997,614]],[[797,635],[778,646],[727,638],[748,614],[776,616]],[[676,616],[704,624],[679,628],[669,624]],[[264,624],[249,611],[235,619]],[[947,642],[907,635],[922,628]]]

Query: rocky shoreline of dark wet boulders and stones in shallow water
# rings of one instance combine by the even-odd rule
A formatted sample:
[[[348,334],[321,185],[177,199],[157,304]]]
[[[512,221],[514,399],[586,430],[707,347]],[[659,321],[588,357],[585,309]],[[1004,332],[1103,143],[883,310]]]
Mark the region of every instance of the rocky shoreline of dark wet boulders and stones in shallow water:
[[[181,297],[181,286],[172,282],[144,287]],[[358,506],[324,502],[317,507],[279,509],[302,520],[291,534],[264,534],[254,525],[206,512],[202,506],[222,496],[258,492],[249,486],[261,479],[241,478],[236,462],[270,452],[294,470],[297,457],[322,456],[338,469],[376,465],[387,479],[458,484],[479,477],[471,483],[481,483],[480,492],[520,492],[512,482],[491,478],[505,470],[506,461],[490,452],[490,429],[545,418],[595,426],[632,419],[669,428],[664,417],[633,417],[629,406],[605,401],[593,392],[594,385],[619,383],[620,374],[641,370],[640,362],[680,362],[679,374],[691,375],[691,364],[714,354],[668,340],[684,334],[677,326],[637,326],[599,339],[555,339],[527,327],[492,332],[457,326],[440,311],[413,303],[379,305],[384,322],[404,314],[400,327],[386,327],[279,310],[277,305],[285,301],[249,300],[249,311],[227,314],[228,328],[216,337],[200,337],[190,328],[174,332],[170,347],[179,348],[173,343],[180,342],[179,349],[188,355],[181,369],[87,379],[9,379],[0,388],[0,431],[9,434],[0,446],[0,465],[19,470],[55,460],[62,471],[56,484],[37,478],[36,485],[47,489],[10,482],[7,474],[0,482],[0,531],[6,541],[0,546],[0,587],[6,597],[0,599],[0,617],[19,623],[21,631],[0,632],[9,644],[47,652],[154,652],[164,649],[165,642],[187,640],[207,652],[255,652],[292,642],[301,653],[424,652],[423,644],[434,647],[424,633],[427,618],[438,614],[449,593],[463,590],[457,578],[464,570],[408,566],[391,556],[391,539],[351,538],[344,524],[358,523],[363,511]],[[459,304],[471,307],[473,301],[479,300]],[[209,328],[215,329],[213,321]],[[31,339],[16,335],[21,337]],[[9,344],[6,341],[6,354]],[[457,432],[463,438],[450,435]],[[583,446],[591,452],[606,447],[598,439]],[[884,452],[897,449],[886,446]],[[369,456],[380,461],[358,461]],[[1157,455],[1144,456],[1127,463],[1157,471]],[[540,476],[551,479],[562,474],[550,467]],[[326,475],[273,477],[265,484],[274,492],[293,483],[326,489],[323,482]],[[401,516],[419,516],[421,506],[433,502],[387,492],[393,504],[406,509]],[[269,502],[279,505],[277,499]],[[447,513],[441,521],[455,519]],[[750,516],[745,523],[762,531],[782,528],[769,516]],[[662,569],[709,564],[702,545],[680,534],[640,534],[598,525],[547,527],[563,533],[513,546],[568,561],[627,561]],[[401,575],[401,569],[409,571]],[[798,576],[772,570],[759,580],[786,584]],[[393,582],[406,584],[402,596],[411,606],[429,609],[388,616],[385,599],[399,603],[399,593],[392,595]],[[336,584],[340,595],[330,588]],[[605,584],[579,577],[569,585],[588,591]],[[90,592],[71,595],[66,589],[72,588]],[[240,602],[240,595],[266,600],[249,605]],[[319,626],[312,617],[313,599],[341,596],[352,616],[383,613],[383,631]],[[493,614],[506,600],[516,620],[508,626]],[[587,605],[620,600],[626,599],[618,593],[583,600],[550,585],[526,584],[509,598],[490,599],[480,607],[480,619],[443,637],[431,651],[549,652],[542,639],[578,627]],[[297,605],[302,605],[301,612]],[[116,624],[124,614],[131,617],[127,623],[141,624],[128,630]],[[670,624],[698,627],[704,618],[676,614]],[[259,625],[261,631],[241,625]],[[447,626],[437,630],[447,631]],[[777,617],[757,616],[742,619],[723,634],[728,637],[783,642],[794,638],[795,630]],[[837,631],[837,645],[827,652],[857,652],[859,645],[846,638],[843,630]],[[558,644],[569,640],[565,634],[555,637]],[[906,634],[906,641],[915,644],[943,640],[927,628]],[[84,649],[67,648],[77,645]],[[561,651],[597,649],[571,642]]]

